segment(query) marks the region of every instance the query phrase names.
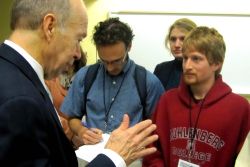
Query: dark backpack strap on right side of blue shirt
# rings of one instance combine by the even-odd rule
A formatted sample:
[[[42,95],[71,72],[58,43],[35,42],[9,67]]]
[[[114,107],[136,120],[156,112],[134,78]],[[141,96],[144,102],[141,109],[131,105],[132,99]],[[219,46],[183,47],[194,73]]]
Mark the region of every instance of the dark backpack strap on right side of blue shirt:
[[[143,119],[146,118],[146,99],[147,99],[147,81],[146,81],[147,71],[144,67],[140,65],[135,66],[135,84],[140,96],[141,104],[143,106]]]

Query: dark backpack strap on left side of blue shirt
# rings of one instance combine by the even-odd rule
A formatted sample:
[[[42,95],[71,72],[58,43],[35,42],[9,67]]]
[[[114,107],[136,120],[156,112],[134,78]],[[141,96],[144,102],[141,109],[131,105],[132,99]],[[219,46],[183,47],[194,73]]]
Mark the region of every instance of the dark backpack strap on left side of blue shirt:
[[[99,69],[100,63],[96,63],[96,64],[92,64],[89,66],[86,75],[85,75],[85,79],[84,79],[84,100],[85,100],[85,106],[84,106],[84,112],[86,113],[86,99],[87,99],[87,95],[89,93],[89,90],[97,76],[97,71]],[[86,113],[87,114],[87,113]]]

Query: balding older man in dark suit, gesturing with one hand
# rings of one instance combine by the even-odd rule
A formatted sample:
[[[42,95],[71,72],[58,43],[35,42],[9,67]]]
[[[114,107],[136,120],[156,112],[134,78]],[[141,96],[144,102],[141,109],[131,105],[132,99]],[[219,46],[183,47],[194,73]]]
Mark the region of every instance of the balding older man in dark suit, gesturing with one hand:
[[[0,45],[0,166],[77,166],[44,79],[80,58],[87,32],[81,0],[14,0],[12,34]],[[128,165],[151,154],[150,120],[129,127],[124,116],[102,154],[89,166]]]

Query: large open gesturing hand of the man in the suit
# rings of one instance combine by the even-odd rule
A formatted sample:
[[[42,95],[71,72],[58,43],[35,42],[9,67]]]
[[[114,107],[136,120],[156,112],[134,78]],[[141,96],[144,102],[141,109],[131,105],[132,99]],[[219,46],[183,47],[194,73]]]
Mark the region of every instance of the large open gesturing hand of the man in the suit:
[[[155,147],[146,148],[149,144],[158,139],[157,135],[152,135],[156,125],[151,120],[142,121],[129,128],[129,117],[124,115],[119,128],[114,130],[105,146],[118,153],[127,165],[138,158],[152,154]]]

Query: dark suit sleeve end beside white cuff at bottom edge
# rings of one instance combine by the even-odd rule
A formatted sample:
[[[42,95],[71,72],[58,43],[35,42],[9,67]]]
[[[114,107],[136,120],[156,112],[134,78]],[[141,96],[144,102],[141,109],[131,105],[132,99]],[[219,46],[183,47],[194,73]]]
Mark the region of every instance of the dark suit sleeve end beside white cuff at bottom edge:
[[[106,155],[99,154],[87,167],[115,167],[115,164]]]

